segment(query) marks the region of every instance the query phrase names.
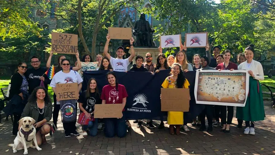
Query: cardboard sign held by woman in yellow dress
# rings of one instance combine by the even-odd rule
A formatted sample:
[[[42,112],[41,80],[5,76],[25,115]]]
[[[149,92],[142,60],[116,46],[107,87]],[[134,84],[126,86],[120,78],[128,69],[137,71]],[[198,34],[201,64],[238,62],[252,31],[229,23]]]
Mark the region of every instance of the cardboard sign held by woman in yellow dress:
[[[161,111],[189,111],[189,89],[161,88]]]

